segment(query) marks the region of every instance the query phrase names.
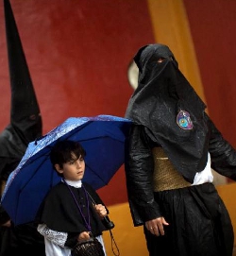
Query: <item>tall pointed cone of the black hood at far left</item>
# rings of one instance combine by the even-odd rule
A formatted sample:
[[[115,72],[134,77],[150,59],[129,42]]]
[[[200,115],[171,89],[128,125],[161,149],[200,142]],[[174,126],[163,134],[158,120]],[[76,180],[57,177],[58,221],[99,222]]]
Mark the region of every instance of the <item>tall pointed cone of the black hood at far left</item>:
[[[23,118],[33,118],[32,115],[38,115],[40,108],[25,60],[21,39],[8,0],[4,0],[4,9],[11,86],[11,121],[18,123],[21,122]]]

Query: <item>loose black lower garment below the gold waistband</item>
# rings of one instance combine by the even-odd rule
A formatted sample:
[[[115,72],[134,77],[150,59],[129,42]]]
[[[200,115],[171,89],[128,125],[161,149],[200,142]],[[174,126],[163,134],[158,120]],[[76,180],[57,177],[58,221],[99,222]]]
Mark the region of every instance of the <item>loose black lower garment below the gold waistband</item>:
[[[149,256],[231,256],[233,228],[211,183],[155,193],[169,226],[164,236],[144,233]]]

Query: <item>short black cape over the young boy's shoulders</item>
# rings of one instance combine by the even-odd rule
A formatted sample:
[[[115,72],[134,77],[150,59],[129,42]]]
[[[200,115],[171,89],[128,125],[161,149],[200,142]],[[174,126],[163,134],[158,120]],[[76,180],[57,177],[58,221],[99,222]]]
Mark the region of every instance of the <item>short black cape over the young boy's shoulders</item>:
[[[103,201],[93,188],[87,184],[82,185],[85,190],[93,197],[96,204],[103,204]],[[70,186],[76,201],[84,210],[84,215],[88,223],[89,213],[87,209],[87,201],[83,188],[75,188]],[[83,207],[85,205],[85,207]],[[98,214],[93,209],[91,198],[89,197],[89,211],[92,233],[94,236],[102,234],[103,230],[107,230],[102,224]],[[71,195],[67,185],[59,182],[54,186],[42,202],[39,212],[36,217],[37,223],[44,223],[51,230],[59,230],[64,232],[80,233],[82,231],[89,231],[86,223],[79,212],[74,197]]]

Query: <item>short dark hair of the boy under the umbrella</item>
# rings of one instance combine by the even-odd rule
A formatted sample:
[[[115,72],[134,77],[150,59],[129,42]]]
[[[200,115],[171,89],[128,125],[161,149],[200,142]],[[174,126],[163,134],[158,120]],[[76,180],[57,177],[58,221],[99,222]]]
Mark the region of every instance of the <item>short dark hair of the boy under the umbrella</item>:
[[[86,156],[86,151],[78,142],[75,141],[59,141],[57,142],[51,150],[50,160],[53,164],[59,164],[59,167],[63,167],[63,163],[75,160],[72,153],[76,155],[76,158],[80,156],[84,158]],[[55,167],[54,167],[55,168]]]

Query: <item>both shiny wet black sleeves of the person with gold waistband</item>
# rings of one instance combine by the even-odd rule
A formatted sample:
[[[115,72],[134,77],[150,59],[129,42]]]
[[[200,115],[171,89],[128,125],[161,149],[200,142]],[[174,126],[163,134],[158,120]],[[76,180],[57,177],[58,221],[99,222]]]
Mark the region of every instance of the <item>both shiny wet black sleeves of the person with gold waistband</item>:
[[[210,144],[206,145],[211,154],[211,167],[221,175],[236,180],[235,150],[222,138],[211,120],[206,124],[211,130]],[[158,145],[147,135],[146,128],[137,125],[131,128],[125,169],[128,202],[135,226],[162,215],[159,201],[153,196],[155,162],[152,149],[155,146]],[[183,154],[181,160],[185,158],[188,155]]]

